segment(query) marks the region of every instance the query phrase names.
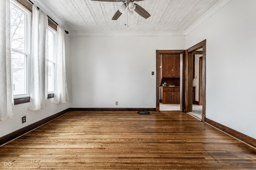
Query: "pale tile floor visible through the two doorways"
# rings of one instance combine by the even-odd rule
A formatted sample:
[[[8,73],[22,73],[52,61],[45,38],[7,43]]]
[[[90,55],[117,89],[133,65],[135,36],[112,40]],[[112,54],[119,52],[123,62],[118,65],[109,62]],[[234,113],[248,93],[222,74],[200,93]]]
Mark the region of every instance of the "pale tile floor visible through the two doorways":
[[[180,104],[162,104],[160,103],[160,111],[177,111],[180,110]],[[202,106],[193,104],[191,115],[202,119]]]

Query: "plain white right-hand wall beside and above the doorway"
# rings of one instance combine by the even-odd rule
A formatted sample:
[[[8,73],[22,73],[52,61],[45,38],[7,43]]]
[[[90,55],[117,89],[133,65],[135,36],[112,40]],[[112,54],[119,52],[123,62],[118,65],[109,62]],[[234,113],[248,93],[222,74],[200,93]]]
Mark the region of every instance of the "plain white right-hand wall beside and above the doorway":
[[[232,0],[186,36],[206,39],[206,117],[256,138],[256,1]]]

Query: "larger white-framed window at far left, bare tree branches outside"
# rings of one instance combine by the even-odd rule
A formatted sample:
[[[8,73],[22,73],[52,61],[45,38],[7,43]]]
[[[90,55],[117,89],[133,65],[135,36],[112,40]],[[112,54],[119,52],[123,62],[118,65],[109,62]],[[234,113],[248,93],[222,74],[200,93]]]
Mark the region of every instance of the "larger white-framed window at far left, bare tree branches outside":
[[[30,25],[31,13],[12,1],[11,46],[14,98],[29,96],[30,90]]]

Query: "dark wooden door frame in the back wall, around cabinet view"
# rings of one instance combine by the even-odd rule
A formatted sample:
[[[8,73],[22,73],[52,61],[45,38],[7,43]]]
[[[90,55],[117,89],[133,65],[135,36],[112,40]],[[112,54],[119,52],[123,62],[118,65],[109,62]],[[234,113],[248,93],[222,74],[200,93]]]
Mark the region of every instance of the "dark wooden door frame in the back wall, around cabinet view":
[[[160,86],[161,86],[161,55],[180,54],[180,104],[179,109],[185,111],[185,50],[156,50],[156,111],[160,111]],[[184,67],[184,68],[183,68]]]

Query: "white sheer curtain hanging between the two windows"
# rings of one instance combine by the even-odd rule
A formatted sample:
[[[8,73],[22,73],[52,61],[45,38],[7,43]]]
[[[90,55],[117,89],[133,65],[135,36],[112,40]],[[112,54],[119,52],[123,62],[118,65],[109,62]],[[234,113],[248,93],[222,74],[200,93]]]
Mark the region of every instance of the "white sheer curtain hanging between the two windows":
[[[32,8],[30,110],[46,107],[48,97],[48,16]]]

